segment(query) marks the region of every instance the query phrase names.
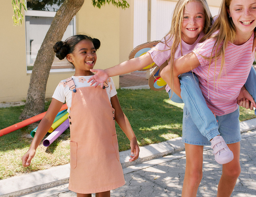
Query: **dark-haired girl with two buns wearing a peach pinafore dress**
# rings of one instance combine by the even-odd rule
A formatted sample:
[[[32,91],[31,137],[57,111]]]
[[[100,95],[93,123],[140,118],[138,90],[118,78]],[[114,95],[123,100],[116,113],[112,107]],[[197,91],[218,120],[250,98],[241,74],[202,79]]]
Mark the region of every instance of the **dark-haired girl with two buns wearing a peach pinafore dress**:
[[[125,184],[119,161],[115,121],[130,140],[130,162],[139,157],[139,146],[131,125],[124,115],[111,78],[104,87],[94,88],[86,81],[93,75],[96,51],[100,40],[86,35],[74,35],[54,45],[56,56],[75,67],[74,76],[57,86],[49,109],[38,125],[28,152],[22,157],[23,166],[29,166],[37,146],[49,130],[55,116],[65,102],[68,105],[71,130],[71,172],[69,189],[77,197],[110,197],[110,190]]]

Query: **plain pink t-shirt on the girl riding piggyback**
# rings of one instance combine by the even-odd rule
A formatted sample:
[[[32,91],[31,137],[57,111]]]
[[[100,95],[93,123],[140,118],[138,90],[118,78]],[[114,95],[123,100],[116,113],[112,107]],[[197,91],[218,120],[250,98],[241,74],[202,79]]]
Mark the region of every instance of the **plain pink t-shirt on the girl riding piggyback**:
[[[194,44],[187,44],[182,40],[182,51],[181,51],[181,46],[179,45],[177,48],[177,51],[175,53],[174,59],[178,59],[180,57],[190,53],[196,44],[200,41],[200,39],[204,36],[205,34],[201,32],[197,38],[197,40],[194,42]],[[166,39],[169,37],[167,36]],[[153,62],[157,66],[161,66],[166,60],[168,60],[171,57],[171,47],[173,44],[173,39],[169,40],[169,42],[165,43],[164,38],[159,42],[154,48],[148,51],[148,53],[151,55],[151,58]],[[171,89],[168,85],[166,85],[166,92],[169,92]]]

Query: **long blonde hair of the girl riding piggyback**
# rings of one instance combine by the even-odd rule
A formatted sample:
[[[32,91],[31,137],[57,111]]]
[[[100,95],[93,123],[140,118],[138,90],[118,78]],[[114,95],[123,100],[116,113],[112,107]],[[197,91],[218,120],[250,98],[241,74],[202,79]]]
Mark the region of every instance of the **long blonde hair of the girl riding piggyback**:
[[[212,15],[207,4],[206,0],[179,0],[176,4],[174,9],[173,18],[172,18],[172,25],[169,33],[164,37],[163,43],[168,46],[168,42],[173,39],[172,46],[169,46],[171,50],[171,56],[168,60],[168,63],[171,65],[171,79],[173,79],[173,64],[174,64],[174,57],[177,51],[178,46],[181,46],[182,52],[182,23],[183,23],[183,13],[184,8],[188,2],[200,2],[204,8],[204,15],[205,15],[205,24],[204,24],[204,33],[208,33],[210,31],[210,27],[212,25]],[[183,53],[182,53],[183,56]],[[171,80],[171,90],[173,90],[173,80]]]

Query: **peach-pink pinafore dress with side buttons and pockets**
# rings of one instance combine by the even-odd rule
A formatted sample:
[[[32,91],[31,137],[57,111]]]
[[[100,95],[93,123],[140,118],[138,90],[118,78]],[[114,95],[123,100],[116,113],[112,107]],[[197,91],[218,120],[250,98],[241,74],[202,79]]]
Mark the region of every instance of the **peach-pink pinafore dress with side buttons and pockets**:
[[[123,186],[125,181],[119,162],[114,109],[106,89],[100,86],[75,89],[72,78],[66,81],[73,90],[69,114],[69,189],[92,194]]]

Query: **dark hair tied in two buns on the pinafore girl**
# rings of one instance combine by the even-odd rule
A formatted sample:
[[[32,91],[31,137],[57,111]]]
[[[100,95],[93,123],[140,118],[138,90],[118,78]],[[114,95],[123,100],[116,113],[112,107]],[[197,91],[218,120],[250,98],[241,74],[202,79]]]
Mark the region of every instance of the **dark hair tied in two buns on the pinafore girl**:
[[[56,42],[56,44],[53,46],[56,57],[60,60],[63,60],[68,54],[73,53],[75,45],[82,40],[91,40],[96,51],[101,46],[101,41],[97,38],[92,38],[90,36],[82,34],[73,35],[67,38],[65,41]]]

